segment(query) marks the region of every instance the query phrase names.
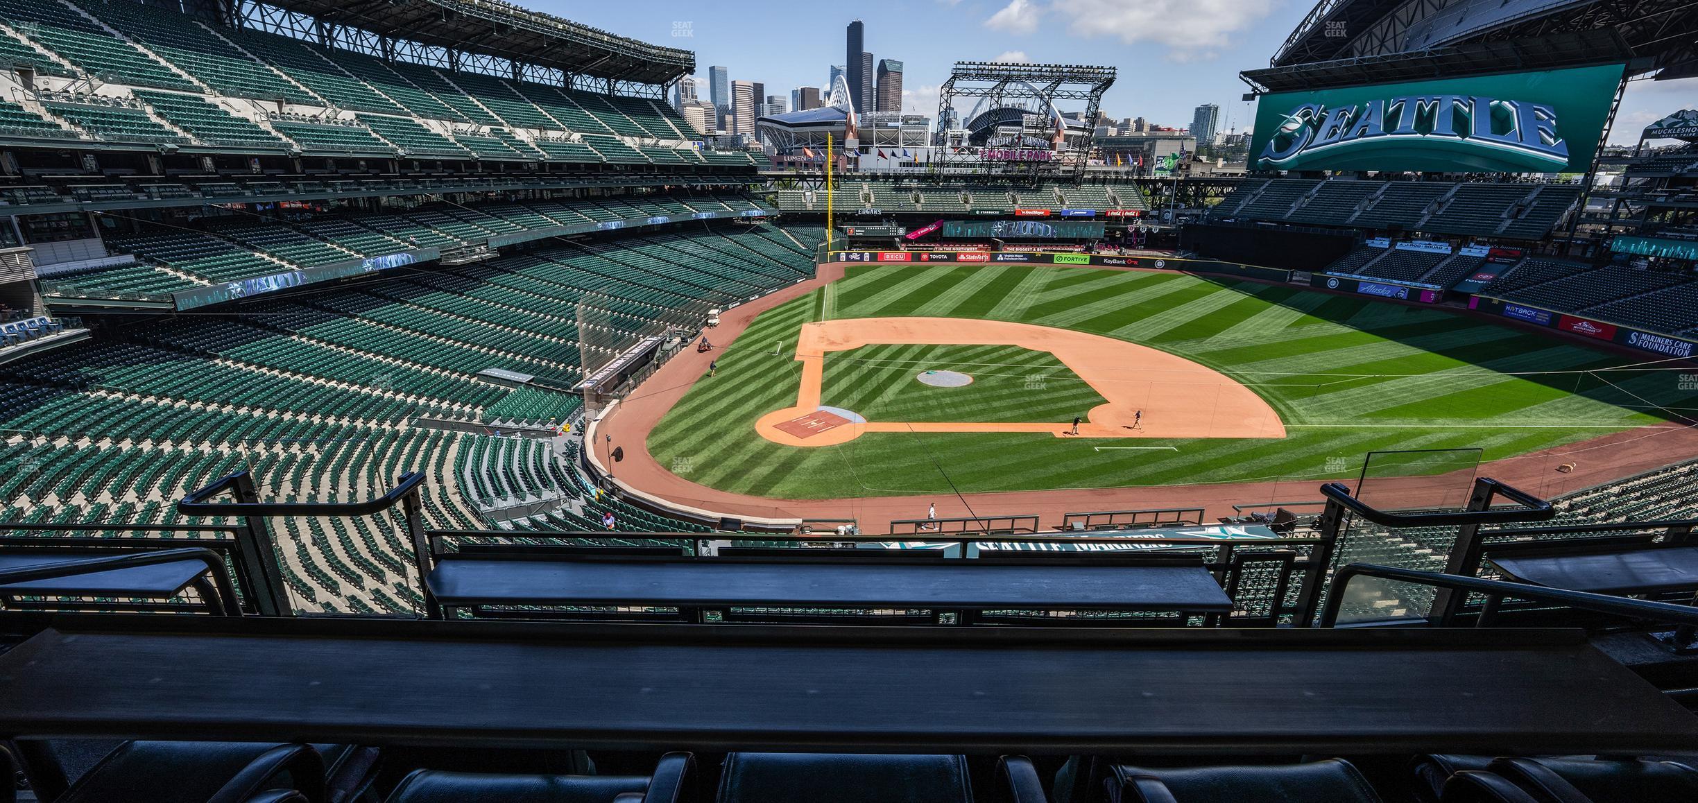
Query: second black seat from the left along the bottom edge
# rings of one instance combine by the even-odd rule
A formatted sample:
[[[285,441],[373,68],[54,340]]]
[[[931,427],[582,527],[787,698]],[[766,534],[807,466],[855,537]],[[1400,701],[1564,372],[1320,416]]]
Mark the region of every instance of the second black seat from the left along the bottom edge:
[[[401,779],[389,803],[676,803],[693,757],[661,757],[654,776],[535,776],[419,769]]]

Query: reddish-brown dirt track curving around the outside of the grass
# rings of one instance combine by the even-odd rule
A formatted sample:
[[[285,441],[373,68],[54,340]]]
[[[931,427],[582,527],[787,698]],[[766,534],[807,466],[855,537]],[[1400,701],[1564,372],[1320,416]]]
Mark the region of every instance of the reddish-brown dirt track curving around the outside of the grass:
[[[842,278],[846,263],[818,267],[818,277],[725,311],[711,340],[720,345],[737,336],[761,312]],[[914,494],[859,499],[771,499],[718,491],[669,472],[649,453],[649,433],[689,387],[708,373],[713,353],[684,350],[662,365],[635,392],[613,407],[596,428],[625,448],[618,482],[647,496],[683,506],[740,518],[852,518],[866,533],[890,530],[890,521],[924,518],[929,504],[937,516],[1036,514],[1054,526],[1063,513],[1150,508],[1202,508],[1207,518],[1231,516],[1233,504],[1263,504],[1319,499],[1321,479],[1284,482],[1229,482],[1202,486],[1110,487],[1065,491],[1009,491],[983,494]],[[591,452],[599,458],[599,452]],[[1481,465],[1481,477],[1496,477],[1535,496],[1552,499],[1603,482],[1659,469],[1698,453],[1698,428],[1659,424],[1591,438],[1567,446],[1496,460]],[[1557,467],[1572,463],[1571,472]],[[1313,511],[1306,508],[1304,511]]]

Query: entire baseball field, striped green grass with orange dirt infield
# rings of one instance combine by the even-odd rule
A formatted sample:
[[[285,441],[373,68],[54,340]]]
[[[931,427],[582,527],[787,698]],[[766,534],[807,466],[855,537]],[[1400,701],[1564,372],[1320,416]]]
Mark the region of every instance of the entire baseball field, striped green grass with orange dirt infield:
[[[649,452],[784,499],[1321,480],[1375,450],[1499,460],[1698,407],[1650,358],[1448,311],[1071,267],[849,267],[715,358]]]

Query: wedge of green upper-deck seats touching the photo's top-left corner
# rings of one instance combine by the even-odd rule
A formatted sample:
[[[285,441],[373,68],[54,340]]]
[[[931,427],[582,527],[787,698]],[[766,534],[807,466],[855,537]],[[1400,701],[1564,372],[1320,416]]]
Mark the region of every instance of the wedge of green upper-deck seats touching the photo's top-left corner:
[[[0,0],[0,19],[19,34],[107,81],[177,90],[197,88],[98,22],[59,0]]]

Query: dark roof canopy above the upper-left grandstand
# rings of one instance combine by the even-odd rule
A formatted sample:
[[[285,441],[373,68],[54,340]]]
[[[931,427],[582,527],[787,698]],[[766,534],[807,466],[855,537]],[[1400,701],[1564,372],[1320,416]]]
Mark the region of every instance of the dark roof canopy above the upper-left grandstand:
[[[696,54],[615,36],[499,0],[267,0],[284,10],[384,37],[637,83],[696,71]]]

